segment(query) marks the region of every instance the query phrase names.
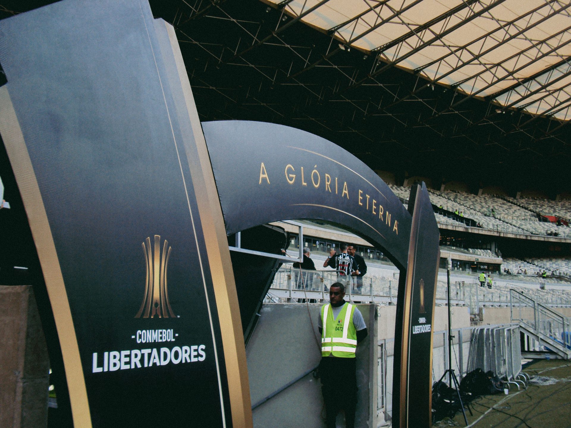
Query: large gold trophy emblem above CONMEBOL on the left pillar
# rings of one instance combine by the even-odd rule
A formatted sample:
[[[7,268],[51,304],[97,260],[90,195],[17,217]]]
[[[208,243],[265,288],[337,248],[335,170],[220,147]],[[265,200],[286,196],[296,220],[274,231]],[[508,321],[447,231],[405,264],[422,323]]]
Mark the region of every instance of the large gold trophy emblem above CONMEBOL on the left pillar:
[[[155,235],[154,245],[151,238],[147,237],[141,244],[143,247],[147,277],[144,286],[143,302],[135,318],[151,317],[159,318],[175,317],[171,304],[168,301],[167,288],[167,265],[171,255],[171,247],[165,239],[163,249],[160,250],[160,235]]]

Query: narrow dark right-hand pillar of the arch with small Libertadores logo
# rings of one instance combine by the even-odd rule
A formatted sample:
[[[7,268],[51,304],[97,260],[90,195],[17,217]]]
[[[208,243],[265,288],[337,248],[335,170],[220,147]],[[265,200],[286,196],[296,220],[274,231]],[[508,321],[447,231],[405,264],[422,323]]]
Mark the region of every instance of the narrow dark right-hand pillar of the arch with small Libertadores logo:
[[[411,189],[411,240],[401,270],[395,326],[393,426],[432,426],[432,326],[440,233],[424,183]]]

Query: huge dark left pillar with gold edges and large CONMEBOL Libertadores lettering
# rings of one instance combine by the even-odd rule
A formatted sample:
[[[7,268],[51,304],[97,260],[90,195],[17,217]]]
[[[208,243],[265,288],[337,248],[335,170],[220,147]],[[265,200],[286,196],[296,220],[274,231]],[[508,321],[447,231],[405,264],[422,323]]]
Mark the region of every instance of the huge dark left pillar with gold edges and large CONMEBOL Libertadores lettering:
[[[251,426],[222,212],[172,27],[146,1],[63,1],[0,22],[0,63],[58,410],[76,427]]]

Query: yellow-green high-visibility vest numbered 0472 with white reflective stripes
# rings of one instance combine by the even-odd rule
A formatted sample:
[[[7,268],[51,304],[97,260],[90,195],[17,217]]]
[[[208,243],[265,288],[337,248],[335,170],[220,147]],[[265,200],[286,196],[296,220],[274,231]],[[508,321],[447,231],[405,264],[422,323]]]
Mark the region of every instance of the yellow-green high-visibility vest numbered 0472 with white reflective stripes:
[[[339,322],[336,323],[333,319],[333,309],[329,306],[331,305],[327,304],[321,308],[321,325],[323,325],[321,356],[353,358],[357,348],[357,333],[353,325],[355,306],[345,303],[341,308],[337,318],[343,320],[342,331],[339,329]]]

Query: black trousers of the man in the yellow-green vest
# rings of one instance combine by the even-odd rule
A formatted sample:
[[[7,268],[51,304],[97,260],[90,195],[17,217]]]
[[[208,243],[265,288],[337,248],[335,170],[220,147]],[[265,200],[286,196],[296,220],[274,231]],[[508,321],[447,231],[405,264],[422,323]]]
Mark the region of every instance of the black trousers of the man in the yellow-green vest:
[[[355,427],[357,377],[355,358],[323,357],[319,364],[321,392],[325,402],[325,425],[335,428],[335,418],[345,411],[347,428]]]

